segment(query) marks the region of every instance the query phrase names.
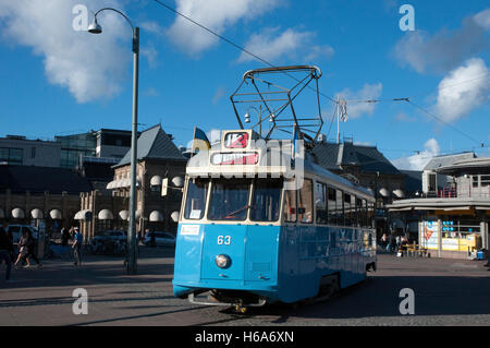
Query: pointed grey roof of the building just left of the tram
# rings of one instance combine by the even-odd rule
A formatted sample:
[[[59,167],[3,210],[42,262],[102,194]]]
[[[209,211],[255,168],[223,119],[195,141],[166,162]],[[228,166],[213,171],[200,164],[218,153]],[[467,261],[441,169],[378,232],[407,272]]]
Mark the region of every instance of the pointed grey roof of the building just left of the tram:
[[[171,137],[161,129],[160,124],[143,131],[139,135],[137,143],[137,159],[187,160],[172,142]],[[114,167],[126,166],[130,163],[131,149]]]

